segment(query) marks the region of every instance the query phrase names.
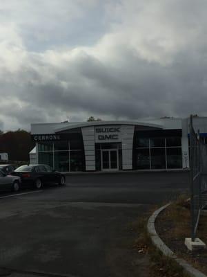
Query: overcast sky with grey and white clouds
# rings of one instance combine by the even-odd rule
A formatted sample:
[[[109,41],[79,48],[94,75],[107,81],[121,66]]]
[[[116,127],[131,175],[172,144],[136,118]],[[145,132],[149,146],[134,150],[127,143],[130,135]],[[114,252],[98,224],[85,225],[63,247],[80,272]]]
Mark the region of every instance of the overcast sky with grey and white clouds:
[[[0,129],[207,116],[207,1],[1,0]]]

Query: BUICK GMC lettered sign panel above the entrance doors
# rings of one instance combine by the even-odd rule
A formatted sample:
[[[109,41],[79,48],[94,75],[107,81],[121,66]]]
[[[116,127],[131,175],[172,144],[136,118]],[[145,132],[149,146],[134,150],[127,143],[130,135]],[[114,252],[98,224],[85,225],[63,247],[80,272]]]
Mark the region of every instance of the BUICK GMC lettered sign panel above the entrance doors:
[[[96,143],[121,141],[121,126],[99,126],[95,127]]]

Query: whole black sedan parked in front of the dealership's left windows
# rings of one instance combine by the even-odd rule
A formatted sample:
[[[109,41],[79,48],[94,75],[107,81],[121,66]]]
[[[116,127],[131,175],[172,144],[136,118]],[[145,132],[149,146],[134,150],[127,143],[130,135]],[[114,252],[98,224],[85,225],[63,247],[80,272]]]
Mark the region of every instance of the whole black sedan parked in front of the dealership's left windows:
[[[63,174],[43,164],[20,166],[11,175],[21,177],[21,186],[32,185],[38,189],[45,184],[64,185],[66,181]]]

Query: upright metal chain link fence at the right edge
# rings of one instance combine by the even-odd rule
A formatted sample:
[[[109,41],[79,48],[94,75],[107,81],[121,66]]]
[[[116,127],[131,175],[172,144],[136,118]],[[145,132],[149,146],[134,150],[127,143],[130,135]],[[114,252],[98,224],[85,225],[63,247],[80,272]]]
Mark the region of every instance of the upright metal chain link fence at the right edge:
[[[194,241],[201,210],[207,203],[207,145],[201,139],[199,130],[196,133],[193,128],[193,116],[190,116],[189,127],[191,238]]]

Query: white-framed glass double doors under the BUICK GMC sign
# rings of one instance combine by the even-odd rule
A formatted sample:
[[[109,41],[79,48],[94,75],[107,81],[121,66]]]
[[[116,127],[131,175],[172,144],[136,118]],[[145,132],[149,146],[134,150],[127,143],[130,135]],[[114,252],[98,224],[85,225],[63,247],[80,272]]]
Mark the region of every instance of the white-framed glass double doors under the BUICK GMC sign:
[[[118,150],[101,150],[101,169],[102,170],[118,170]]]

